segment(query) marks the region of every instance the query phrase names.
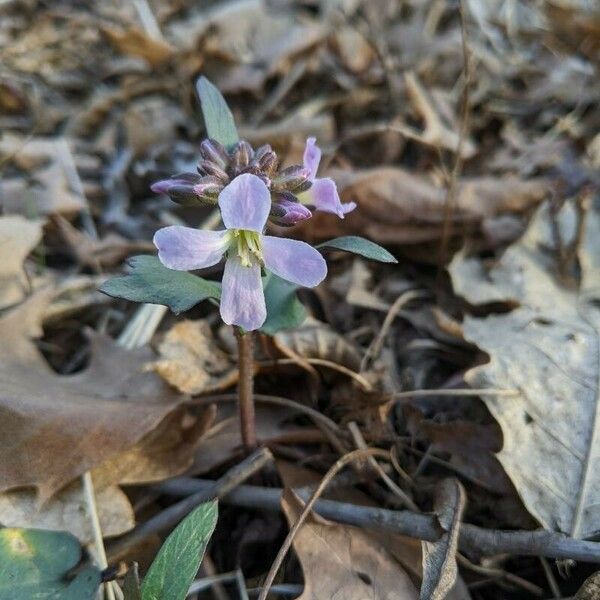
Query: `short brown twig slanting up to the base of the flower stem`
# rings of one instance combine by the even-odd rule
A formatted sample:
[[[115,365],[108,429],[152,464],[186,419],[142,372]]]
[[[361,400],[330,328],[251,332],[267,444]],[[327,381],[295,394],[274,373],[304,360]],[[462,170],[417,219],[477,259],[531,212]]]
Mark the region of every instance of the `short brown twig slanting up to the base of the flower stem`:
[[[196,506],[203,502],[208,502],[215,498],[228,494],[235,489],[240,483],[248,479],[251,475],[262,469],[267,463],[273,460],[273,455],[267,448],[257,450],[241,463],[227,471],[225,475],[213,482],[213,484],[199,491],[181,502],[177,502],[161,513],[148,519],[142,525],[138,525],[125,537],[110,547],[109,553],[111,557],[118,556],[123,550],[140,542],[148,535],[163,531],[175,526]]]

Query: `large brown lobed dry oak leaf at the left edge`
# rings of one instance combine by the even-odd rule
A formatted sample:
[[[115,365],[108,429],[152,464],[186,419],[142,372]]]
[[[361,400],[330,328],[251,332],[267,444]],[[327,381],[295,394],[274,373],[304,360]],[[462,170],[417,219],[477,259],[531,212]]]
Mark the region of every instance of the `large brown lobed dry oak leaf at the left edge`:
[[[35,487],[40,502],[141,443],[167,418],[179,419],[185,440],[186,430],[204,427],[186,418],[182,396],[143,372],[147,349],[130,352],[95,336],[84,371],[54,373],[32,342],[51,297],[51,290],[38,292],[0,319],[0,490]]]

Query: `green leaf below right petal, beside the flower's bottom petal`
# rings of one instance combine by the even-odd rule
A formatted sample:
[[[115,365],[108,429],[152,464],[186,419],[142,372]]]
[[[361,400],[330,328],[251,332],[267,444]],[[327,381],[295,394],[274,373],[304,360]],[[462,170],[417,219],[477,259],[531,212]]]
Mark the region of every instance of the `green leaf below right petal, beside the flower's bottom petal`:
[[[298,286],[269,273],[264,280],[267,319],[260,328],[268,335],[281,329],[298,327],[306,318],[306,309],[298,300]]]

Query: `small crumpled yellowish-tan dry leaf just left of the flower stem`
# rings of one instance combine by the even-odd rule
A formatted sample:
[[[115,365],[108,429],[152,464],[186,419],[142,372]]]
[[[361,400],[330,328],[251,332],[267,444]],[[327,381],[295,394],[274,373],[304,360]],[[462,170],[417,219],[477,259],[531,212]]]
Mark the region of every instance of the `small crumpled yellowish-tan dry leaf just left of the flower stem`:
[[[206,321],[180,321],[158,351],[161,358],[147,368],[185,394],[219,392],[237,382],[237,367],[216,344]]]

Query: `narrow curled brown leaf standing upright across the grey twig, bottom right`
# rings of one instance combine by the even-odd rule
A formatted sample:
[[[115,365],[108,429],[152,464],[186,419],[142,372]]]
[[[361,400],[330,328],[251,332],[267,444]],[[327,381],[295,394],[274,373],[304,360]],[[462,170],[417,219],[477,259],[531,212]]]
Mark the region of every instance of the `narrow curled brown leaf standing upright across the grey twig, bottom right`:
[[[422,542],[421,600],[444,600],[456,583],[456,551],[465,502],[465,491],[458,480],[444,479],[439,484],[434,510],[444,533],[437,542]]]

